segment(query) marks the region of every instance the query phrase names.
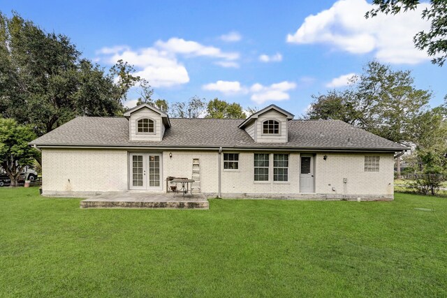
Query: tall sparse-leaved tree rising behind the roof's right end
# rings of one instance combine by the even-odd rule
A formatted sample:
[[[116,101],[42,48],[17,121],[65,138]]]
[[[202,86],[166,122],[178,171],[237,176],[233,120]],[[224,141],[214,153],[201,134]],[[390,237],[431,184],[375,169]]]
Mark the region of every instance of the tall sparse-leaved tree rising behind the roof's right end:
[[[372,61],[353,84],[358,126],[393,142],[409,145],[414,120],[428,108],[432,93],[417,89],[410,70],[393,70]]]

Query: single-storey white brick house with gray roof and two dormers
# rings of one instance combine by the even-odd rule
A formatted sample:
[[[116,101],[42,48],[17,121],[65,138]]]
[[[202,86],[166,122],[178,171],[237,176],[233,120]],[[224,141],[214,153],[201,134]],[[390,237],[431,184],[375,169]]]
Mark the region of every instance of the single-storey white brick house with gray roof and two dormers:
[[[30,144],[42,151],[43,195],[78,197],[165,192],[167,177],[193,177],[209,197],[391,200],[394,156],[406,149],[276,105],[247,119],[170,119],[143,104],[78,117]]]

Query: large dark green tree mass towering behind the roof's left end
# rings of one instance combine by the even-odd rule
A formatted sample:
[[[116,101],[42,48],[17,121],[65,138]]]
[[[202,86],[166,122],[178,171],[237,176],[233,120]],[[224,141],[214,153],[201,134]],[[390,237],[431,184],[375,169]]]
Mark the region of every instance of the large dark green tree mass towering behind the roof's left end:
[[[17,13],[0,14],[0,113],[43,135],[78,115],[122,113],[122,100],[139,80],[119,61],[108,73],[67,36],[45,33]]]

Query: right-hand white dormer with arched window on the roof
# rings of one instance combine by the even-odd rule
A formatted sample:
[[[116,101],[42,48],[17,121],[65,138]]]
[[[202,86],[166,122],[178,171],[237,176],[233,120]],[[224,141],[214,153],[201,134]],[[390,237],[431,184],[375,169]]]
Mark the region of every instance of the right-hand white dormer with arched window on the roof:
[[[244,129],[250,137],[259,143],[288,142],[287,121],[294,115],[286,110],[269,105],[245,119],[239,128]]]

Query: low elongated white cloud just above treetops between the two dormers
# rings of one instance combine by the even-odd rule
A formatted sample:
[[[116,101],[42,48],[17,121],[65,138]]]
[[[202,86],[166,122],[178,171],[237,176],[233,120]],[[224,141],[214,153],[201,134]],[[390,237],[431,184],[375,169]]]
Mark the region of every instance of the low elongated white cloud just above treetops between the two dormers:
[[[202,89],[208,91],[219,91],[226,95],[236,94],[251,94],[251,100],[259,105],[266,101],[279,101],[288,100],[290,98],[287,91],[291,91],[296,88],[294,82],[279,82],[271,84],[270,86],[264,86],[263,84],[253,84],[251,87],[244,87],[237,81],[222,81],[219,80],[215,83],[205,84]]]

